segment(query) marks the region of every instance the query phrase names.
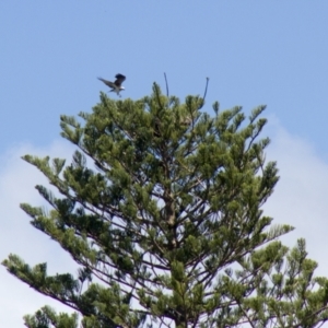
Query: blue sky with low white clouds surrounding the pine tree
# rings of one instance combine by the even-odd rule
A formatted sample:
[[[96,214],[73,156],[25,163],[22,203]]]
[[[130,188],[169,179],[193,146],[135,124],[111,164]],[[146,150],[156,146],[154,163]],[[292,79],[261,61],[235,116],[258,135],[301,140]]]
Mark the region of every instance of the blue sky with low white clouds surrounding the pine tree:
[[[164,89],[166,72],[171,94],[183,98],[202,95],[209,77],[204,110],[214,101],[221,108],[242,105],[246,113],[268,105],[268,157],[278,161],[281,183],[266,210],[298,227],[291,244],[305,236],[328,276],[319,251],[327,248],[320,233],[328,227],[327,16],[327,1],[2,1],[1,260],[11,251],[32,263],[50,256],[54,272],[61,265],[67,271],[69,257],[19,210],[20,202],[42,203],[33,189],[42,176],[19,157],[70,157],[59,115],[91,110],[106,91],[97,77],[126,74],[122,97],[137,99],[154,81]],[[1,327],[23,327],[22,314],[49,303],[3,268],[0,277],[0,295],[7,295],[5,302],[0,296]],[[20,303],[22,293],[38,301]]]

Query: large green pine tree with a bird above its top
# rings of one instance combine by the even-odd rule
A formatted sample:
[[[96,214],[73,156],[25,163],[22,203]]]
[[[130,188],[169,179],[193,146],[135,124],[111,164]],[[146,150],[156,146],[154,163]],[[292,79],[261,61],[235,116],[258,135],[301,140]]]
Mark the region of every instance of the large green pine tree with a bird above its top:
[[[47,274],[16,255],[8,271],[81,316],[81,327],[318,327],[328,319],[328,280],[315,278],[305,241],[289,249],[261,206],[278,181],[259,139],[265,106],[201,113],[154,84],[151,96],[101,94],[80,121],[62,116],[72,163],[25,155],[60,192],[36,186],[50,211],[21,208],[80,265]],[[87,164],[91,159],[94,166]],[[90,163],[90,162],[89,162]],[[47,306],[31,328],[78,327]]]

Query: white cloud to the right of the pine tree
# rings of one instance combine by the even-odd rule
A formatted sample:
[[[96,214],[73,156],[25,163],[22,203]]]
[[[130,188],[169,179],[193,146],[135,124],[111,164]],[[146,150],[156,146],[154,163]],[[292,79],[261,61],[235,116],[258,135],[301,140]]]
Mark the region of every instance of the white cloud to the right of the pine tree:
[[[270,119],[271,121],[271,119]],[[304,237],[308,257],[319,265],[317,274],[328,277],[326,256],[328,229],[328,164],[314,147],[298,137],[291,136],[277,120],[270,125],[271,144],[268,160],[277,161],[280,180],[265,206],[265,212],[274,223],[295,226],[294,232],[282,238],[288,246]]]

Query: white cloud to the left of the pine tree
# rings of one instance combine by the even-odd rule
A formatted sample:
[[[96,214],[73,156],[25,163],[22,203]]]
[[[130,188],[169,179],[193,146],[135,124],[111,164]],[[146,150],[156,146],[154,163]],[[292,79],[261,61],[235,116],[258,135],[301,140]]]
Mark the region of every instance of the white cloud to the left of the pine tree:
[[[48,262],[48,272],[75,273],[77,266],[54,241],[30,224],[30,216],[19,207],[21,202],[43,206],[45,201],[34,188],[36,184],[48,187],[46,178],[34,166],[21,160],[24,154],[50,155],[70,159],[72,148],[68,142],[56,141],[47,150],[28,144],[17,145],[1,156],[0,168],[0,260],[10,253],[19,255],[34,266]],[[45,297],[9,274],[0,267],[0,327],[24,327],[23,315],[33,314],[48,304],[58,311],[69,312],[59,302]]]

